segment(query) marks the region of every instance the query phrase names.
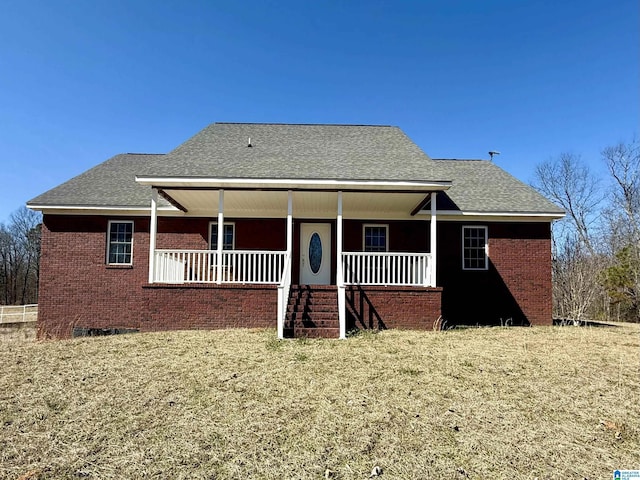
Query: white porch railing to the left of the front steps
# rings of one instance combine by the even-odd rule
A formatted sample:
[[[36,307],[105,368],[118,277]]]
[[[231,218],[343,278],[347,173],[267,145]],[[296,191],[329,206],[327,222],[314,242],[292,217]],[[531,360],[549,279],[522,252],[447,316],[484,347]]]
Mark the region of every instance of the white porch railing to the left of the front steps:
[[[287,252],[224,250],[218,278],[216,250],[156,250],[156,283],[266,283],[279,284]]]

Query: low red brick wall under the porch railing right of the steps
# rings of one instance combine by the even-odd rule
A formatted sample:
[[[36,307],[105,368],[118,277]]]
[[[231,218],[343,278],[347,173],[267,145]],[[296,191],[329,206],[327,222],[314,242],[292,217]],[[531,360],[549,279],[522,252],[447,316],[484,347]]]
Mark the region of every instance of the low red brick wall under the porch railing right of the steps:
[[[347,330],[431,330],[441,313],[441,288],[346,287]]]

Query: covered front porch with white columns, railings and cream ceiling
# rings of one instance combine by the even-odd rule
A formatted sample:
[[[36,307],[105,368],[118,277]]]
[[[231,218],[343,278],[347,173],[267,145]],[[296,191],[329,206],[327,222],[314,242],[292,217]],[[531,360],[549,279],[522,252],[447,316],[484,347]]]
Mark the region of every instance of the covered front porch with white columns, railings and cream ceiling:
[[[436,287],[435,200],[447,182],[137,181],[152,187],[149,284],[271,286],[278,338],[292,285],[334,286],[339,338],[354,288]],[[158,243],[160,198],[171,217],[210,220],[208,248]],[[255,237],[250,248],[236,242],[239,226]],[[269,244],[279,248],[260,248]]]

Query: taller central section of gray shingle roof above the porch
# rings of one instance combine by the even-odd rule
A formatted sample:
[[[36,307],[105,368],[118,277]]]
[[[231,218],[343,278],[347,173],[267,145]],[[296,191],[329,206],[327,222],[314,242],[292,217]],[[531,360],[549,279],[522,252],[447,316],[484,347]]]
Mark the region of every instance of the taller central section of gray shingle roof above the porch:
[[[430,160],[398,127],[214,123],[158,161],[156,175],[442,180]]]

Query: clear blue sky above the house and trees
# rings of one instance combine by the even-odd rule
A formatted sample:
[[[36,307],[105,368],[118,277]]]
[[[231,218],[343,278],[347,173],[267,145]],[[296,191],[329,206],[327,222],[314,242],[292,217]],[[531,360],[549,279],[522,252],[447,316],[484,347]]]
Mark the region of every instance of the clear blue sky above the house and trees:
[[[0,222],[216,121],[400,126],[524,181],[639,131],[637,0],[0,0]]]

